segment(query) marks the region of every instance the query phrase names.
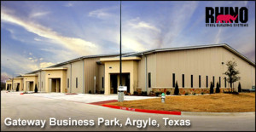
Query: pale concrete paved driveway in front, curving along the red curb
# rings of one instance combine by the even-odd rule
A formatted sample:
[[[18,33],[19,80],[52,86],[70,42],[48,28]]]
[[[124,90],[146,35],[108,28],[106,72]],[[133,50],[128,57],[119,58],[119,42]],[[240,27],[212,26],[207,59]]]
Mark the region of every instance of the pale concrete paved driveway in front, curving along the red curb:
[[[163,115],[152,114],[143,112],[130,112],[117,109],[111,109],[103,106],[90,105],[85,103],[79,103],[69,100],[55,100],[53,97],[55,94],[38,94],[38,95],[19,95],[19,93],[6,93],[1,92],[1,130],[167,130],[167,131],[207,131],[207,130],[222,130],[222,131],[245,131],[255,130],[255,113],[238,114],[238,115],[220,115],[220,116],[198,116],[198,115]],[[59,95],[59,98],[66,95]],[[69,96],[69,95],[67,95]],[[80,96],[80,95],[78,95]],[[82,96],[82,95],[81,95]],[[89,95],[90,96],[90,95]],[[91,95],[92,96],[92,95]],[[110,95],[109,97],[114,97]],[[46,98],[45,98],[46,97]],[[75,96],[70,95],[70,98],[74,100]],[[85,97],[82,97],[85,102]],[[108,97],[106,97],[109,99]],[[111,99],[112,100],[112,99]],[[4,124],[5,118],[12,119],[42,119],[46,120],[46,126],[44,129],[40,127],[8,127]],[[123,123],[123,127],[119,126],[49,126],[49,118],[61,119],[93,119],[97,123],[98,118],[113,119],[117,118],[120,123]],[[131,120],[148,120],[148,118],[155,119],[160,123],[160,127],[147,126],[146,128],[137,128],[137,124],[134,126],[125,126],[127,118]],[[189,127],[181,126],[165,126],[163,118],[170,118],[172,120],[186,120],[189,119],[191,125]]]

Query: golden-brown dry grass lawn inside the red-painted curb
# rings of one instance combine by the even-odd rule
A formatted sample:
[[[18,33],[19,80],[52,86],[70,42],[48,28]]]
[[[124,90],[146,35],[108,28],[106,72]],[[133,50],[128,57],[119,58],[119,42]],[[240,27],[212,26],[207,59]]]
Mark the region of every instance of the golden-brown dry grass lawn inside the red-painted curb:
[[[177,95],[166,96],[166,103],[155,98],[113,102],[108,105],[176,112],[255,112],[255,93]]]

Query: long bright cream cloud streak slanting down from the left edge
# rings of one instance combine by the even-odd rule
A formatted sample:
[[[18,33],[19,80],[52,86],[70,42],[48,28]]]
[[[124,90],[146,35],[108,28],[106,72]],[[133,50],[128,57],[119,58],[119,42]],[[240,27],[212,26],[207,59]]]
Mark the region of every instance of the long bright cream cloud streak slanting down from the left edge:
[[[40,37],[49,38],[58,43],[59,46],[63,46],[78,55],[95,55],[100,52],[100,48],[96,46],[95,43],[85,41],[78,37],[61,36],[50,28],[33,23],[32,21],[20,19],[12,14],[8,14],[4,9],[1,10],[1,20],[22,26],[28,32],[35,33]]]

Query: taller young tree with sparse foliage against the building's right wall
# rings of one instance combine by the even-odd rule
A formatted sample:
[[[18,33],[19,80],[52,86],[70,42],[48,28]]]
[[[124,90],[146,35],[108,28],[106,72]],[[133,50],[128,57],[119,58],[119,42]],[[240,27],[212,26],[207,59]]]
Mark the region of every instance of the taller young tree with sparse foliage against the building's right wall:
[[[229,60],[226,66],[228,66],[228,69],[224,72],[224,75],[228,76],[227,81],[230,83],[231,92],[233,92],[234,88],[232,87],[232,84],[240,80],[240,77],[237,76],[240,72],[236,70],[236,61]]]

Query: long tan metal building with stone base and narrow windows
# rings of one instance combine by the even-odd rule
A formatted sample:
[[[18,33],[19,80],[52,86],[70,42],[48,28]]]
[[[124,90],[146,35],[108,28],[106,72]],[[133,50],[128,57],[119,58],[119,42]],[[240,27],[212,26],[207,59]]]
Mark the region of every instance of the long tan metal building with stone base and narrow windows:
[[[237,62],[242,89],[255,85],[255,63],[225,43],[127,53],[122,60],[122,83],[131,95],[168,90],[173,94],[176,81],[180,94],[207,93],[211,82],[230,88],[223,74],[228,60]],[[37,84],[41,92],[110,95],[117,93],[119,80],[118,54],[92,55],[27,73],[20,89],[34,90]]]

